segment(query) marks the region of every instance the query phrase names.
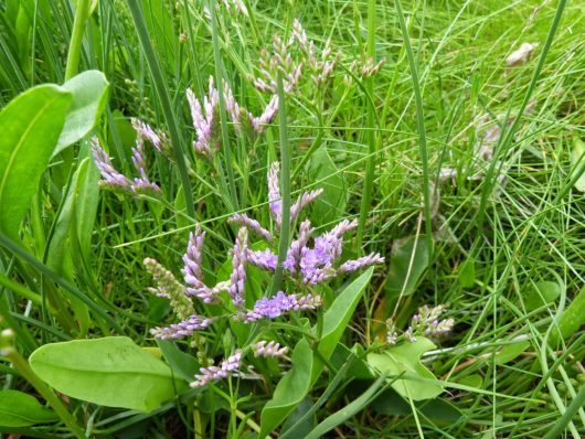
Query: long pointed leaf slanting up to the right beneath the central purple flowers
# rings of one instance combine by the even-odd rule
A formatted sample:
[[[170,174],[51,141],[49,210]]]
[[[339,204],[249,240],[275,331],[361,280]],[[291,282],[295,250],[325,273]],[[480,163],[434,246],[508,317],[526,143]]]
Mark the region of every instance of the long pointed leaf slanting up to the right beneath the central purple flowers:
[[[373,267],[370,267],[368,271],[353,280],[325,313],[321,340],[317,346],[325,360],[329,360],[333,354],[372,272]],[[272,432],[300,404],[323,368],[325,364],[319,355],[312,352],[307,340],[302,339],[298,342],[292,352],[292,368],[278,382],[273,398],[262,410],[259,437]]]

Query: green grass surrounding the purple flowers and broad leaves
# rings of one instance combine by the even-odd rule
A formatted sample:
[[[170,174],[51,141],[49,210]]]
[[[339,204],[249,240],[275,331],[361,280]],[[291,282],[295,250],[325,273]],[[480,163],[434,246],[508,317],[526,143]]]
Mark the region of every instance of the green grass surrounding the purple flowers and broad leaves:
[[[21,33],[11,22],[10,8],[0,3],[2,106],[31,85],[63,83],[74,69],[66,62],[64,36],[74,25],[70,2],[20,4],[31,12],[29,31]],[[70,255],[61,271],[46,268],[51,261],[41,263],[45,246],[35,237],[51,236],[59,224],[70,172],[60,162],[79,163],[87,151],[76,147],[74,157],[53,161],[22,227],[30,255],[0,242],[0,267],[30,297],[45,298],[52,288],[89,300],[93,307],[98,303],[99,310],[92,311],[85,333],[68,333],[42,307],[10,292],[10,283],[2,280],[2,307],[15,322],[2,324],[19,326],[25,354],[34,343],[109,332],[153,345],[148,330],[171,320],[168,307],[146,292],[151,279],[145,257],[157,258],[179,275],[189,231],[200,222],[209,236],[205,276],[215,278],[235,237],[227,216],[246,211],[268,223],[265,176],[268,163],[280,158],[283,175],[290,175],[290,181],[285,176],[285,200],[296,200],[300,189],[323,186],[330,195],[323,197],[319,217],[313,211],[313,223],[325,231],[341,218],[359,218],[351,256],[375,250],[386,257],[345,330],[348,346],[372,347],[375,328],[390,317],[385,307],[395,308],[396,322],[406,324],[419,306],[444,303],[447,317],[456,321],[454,331],[423,356],[445,385],[440,406],[436,400],[397,401],[386,390],[326,437],[585,436],[579,407],[583,329],[557,346],[547,342],[585,282],[585,210],[571,161],[574,139],[585,137],[585,21],[578,2],[245,1],[249,17],[219,6],[211,21],[199,2],[128,4],[97,3],[78,69],[100,69],[110,82],[97,132],[123,173],[131,169],[129,117],[170,133],[177,167],[160,156],[149,157],[170,196],[132,201],[100,192],[89,260],[75,267]],[[291,32],[294,18],[318,46],[330,38],[333,52],[339,52],[332,85],[317,87],[307,81],[304,93],[287,96],[280,119],[254,139],[236,136],[221,111],[225,153],[205,164],[190,147],[185,88],[203,96],[210,75],[216,84],[226,78],[238,101],[259,114],[268,99],[249,85],[248,75],[257,74],[260,50],[269,49],[272,35]],[[523,42],[539,43],[532,58],[507,67],[506,57]],[[385,64],[376,75],[363,81],[354,76],[345,84],[351,63],[363,63],[364,54],[376,61],[385,57]],[[498,124],[501,139],[492,144],[493,158],[482,162],[475,147]],[[442,168],[453,168],[457,175],[442,180]],[[474,173],[485,176],[468,178]],[[504,181],[498,181],[502,174]],[[416,288],[396,301],[386,292],[389,268],[401,239],[413,236],[426,243],[428,264]],[[286,250],[281,248],[280,257]],[[410,264],[419,264],[419,258]],[[560,296],[535,307],[526,299],[545,281],[559,285]],[[220,329],[209,332],[214,352],[222,351],[222,336]],[[4,373],[4,388],[26,389],[23,379]],[[316,407],[319,421],[371,385],[344,373],[338,378],[331,371],[334,389],[328,389],[322,375],[306,401],[311,407],[326,389],[331,392],[331,400]],[[275,383],[268,381],[269,390]],[[237,415],[217,395],[199,399],[200,406],[216,404],[211,408],[217,409],[215,416],[203,410],[209,418],[205,435],[236,437],[238,418],[252,437],[265,401],[238,403]],[[76,416],[93,424],[96,437],[194,436],[196,422],[187,403],[174,401],[148,415],[84,407],[86,414],[77,409]],[[242,419],[246,416],[247,422]],[[63,429],[47,427],[23,431],[65,437]]]

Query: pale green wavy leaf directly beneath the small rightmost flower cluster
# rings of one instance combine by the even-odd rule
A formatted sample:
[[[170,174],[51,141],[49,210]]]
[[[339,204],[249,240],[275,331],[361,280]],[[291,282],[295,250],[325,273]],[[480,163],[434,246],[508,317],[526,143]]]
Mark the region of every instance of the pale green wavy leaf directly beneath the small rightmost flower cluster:
[[[392,388],[404,398],[414,400],[430,399],[443,392],[435,381],[435,375],[421,364],[421,355],[430,351],[435,344],[428,339],[418,338],[414,343],[404,343],[387,349],[383,354],[372,353],[368,355],[368,363],[391,378],[403,374],[392,383]]]

